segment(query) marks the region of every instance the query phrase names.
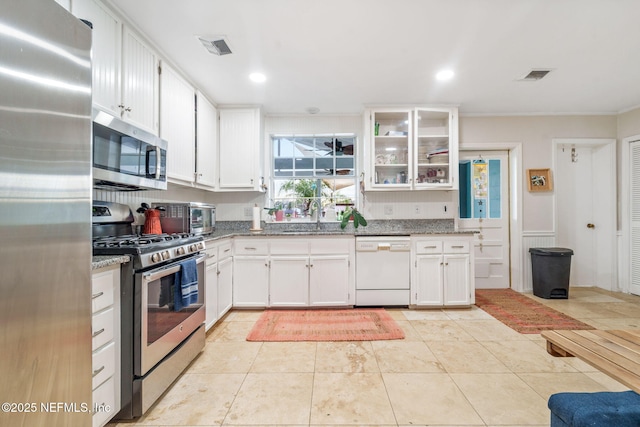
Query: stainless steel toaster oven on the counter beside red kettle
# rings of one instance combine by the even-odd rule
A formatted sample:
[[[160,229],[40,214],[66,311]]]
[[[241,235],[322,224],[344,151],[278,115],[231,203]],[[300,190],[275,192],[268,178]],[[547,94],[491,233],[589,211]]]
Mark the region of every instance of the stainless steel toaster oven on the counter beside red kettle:
[[[216,229],[216,207],[206,203],[153,203],[162,206],[163,233],[211,234]]]

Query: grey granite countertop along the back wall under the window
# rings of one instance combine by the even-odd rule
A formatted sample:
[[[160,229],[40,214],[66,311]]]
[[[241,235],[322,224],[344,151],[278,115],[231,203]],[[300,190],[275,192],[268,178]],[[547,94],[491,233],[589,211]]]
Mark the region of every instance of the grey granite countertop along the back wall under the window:
[[[234,236],[410,236],[416,234],[474,234],[474,231],[459,231],[453,220],[372,220],[366,227],[355,229],[349,224],[344,230],[337,222],[262,223],[263,231],[252,232],[250,221],[218,221],[216,231],[205,240],[218,240]]]

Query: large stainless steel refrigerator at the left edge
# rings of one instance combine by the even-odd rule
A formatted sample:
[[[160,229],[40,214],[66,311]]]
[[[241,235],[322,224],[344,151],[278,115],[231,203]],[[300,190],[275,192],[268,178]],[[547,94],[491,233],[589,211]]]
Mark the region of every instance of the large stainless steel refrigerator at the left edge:
[[[91,425],[90,49],[54,0],[2,1],[2,426]]]

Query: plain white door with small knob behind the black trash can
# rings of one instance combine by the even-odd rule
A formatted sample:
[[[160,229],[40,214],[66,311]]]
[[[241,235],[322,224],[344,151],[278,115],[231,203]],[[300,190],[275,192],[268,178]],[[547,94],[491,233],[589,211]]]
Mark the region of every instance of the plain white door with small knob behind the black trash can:
[[[617,269],[615,142],[555,143],[556,246],[573,250],[570,285],[612,290]]]

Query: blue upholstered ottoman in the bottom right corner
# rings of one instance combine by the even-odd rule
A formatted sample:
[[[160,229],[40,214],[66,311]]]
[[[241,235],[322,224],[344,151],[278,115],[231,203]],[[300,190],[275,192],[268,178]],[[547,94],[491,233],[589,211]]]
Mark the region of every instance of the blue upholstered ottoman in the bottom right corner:
[[[640,394],[633,391],[556,393],[548,405],[551,427],[640,426]]]

